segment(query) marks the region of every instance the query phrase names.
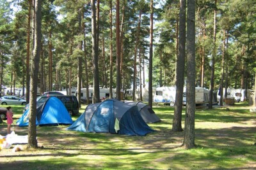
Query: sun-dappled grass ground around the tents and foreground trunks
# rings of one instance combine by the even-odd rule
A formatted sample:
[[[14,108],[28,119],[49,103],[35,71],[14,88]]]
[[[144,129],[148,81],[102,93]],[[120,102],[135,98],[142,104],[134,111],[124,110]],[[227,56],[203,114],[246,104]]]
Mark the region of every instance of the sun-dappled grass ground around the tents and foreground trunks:
[[[23,106],[12,108],[17,120]],[[148,124],[156,132],[142,137],[37,127],[40,148],[1,150],[0,169],[256,169],[256,113],[249,112],[248,103],[197,109],[196,148],[191,150],[180,147],[184,132],[171,132],[173,108],[154,106],[154,111],[162,121]],[[4,120],[3,136],[6,126]],[[13,127],[16,134],[28,134],[28,127]]]

